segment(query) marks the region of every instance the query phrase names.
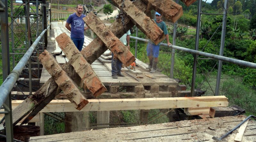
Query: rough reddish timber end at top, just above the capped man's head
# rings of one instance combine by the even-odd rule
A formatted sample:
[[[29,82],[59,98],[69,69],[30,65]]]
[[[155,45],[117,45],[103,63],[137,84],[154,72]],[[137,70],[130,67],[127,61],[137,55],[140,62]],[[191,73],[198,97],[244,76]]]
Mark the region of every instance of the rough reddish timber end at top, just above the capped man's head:
[[[146,4],[153,7],[154,10],[159,12],[164,18],[171,20],[175,23],[183,15],[182,6],[172,0],[142,0]]]

